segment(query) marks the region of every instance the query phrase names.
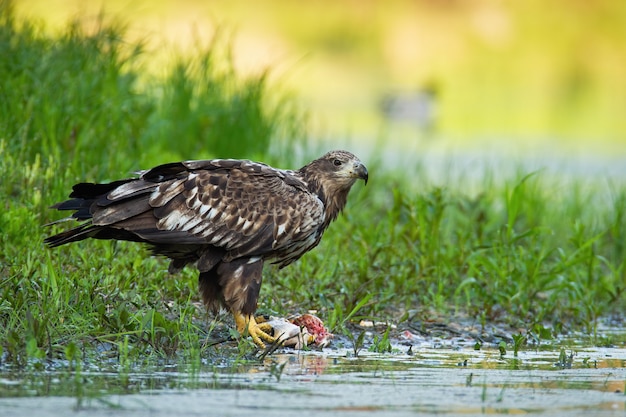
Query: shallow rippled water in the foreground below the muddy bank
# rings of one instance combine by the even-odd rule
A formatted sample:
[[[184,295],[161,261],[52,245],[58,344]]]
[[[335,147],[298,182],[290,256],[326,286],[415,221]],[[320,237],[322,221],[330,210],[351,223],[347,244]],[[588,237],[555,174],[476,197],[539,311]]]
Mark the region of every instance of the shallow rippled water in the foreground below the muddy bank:
[[[394,349],[406,351],[406,347]],[[284,351],[142,372],[0,374],[2,416],[624,415],[626,349]]]

